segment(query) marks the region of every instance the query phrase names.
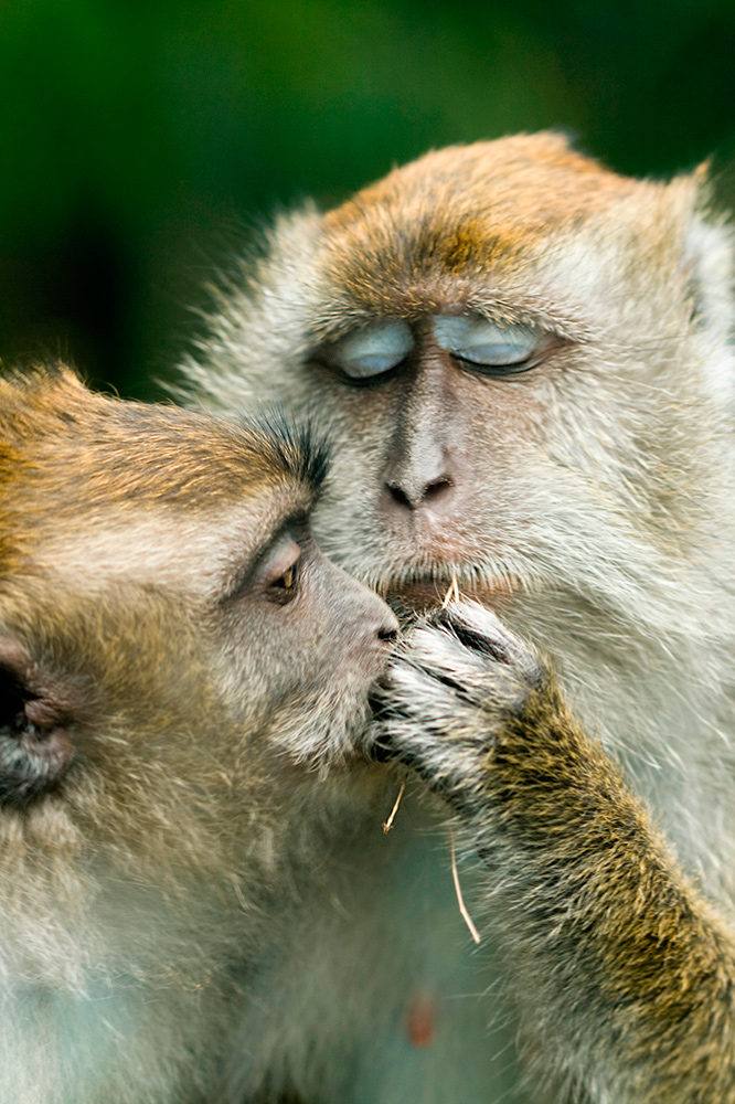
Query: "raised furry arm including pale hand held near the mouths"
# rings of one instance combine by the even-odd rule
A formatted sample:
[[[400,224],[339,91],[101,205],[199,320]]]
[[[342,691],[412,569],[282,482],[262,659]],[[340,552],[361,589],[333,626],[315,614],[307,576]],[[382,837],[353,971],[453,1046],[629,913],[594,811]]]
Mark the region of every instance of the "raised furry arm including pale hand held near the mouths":
[[[615,1104],[735,1102],[735,943],[553,675],[457,604],[394,659],[380,742],[487,869],[533,1061]]]

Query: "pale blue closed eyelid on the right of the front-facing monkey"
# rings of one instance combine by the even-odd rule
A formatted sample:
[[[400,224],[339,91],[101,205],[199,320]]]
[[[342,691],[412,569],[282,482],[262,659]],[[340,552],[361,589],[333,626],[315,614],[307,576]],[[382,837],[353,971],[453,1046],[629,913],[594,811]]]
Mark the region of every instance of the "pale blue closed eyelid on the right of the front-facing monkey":
[[[483,375],[528,372],[541,342],[541,335],[530,326],[500,326],[480,315],[438,315],[434,336],[441,349]]]

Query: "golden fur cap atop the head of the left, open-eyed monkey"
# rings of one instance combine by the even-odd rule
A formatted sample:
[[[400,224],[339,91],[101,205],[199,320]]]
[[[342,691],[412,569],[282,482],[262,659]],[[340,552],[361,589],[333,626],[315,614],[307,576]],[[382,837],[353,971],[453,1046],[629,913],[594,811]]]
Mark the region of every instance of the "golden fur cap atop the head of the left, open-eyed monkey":
[[[146,461],[131,469],[126,461],[141,436]],[[185,457],[177,459],[182,439]],[[62,486],[62,510],[94,512],[110,498],[121,506],[195,509],[213,495],[235,500],[248,488],[316,474],[303,443],[287,433],[270,439],[224,421],[214,427],[211,418],[170,406],[93,394],[63,365],[0,378],[0,495],[10,498],[22,480],[31,510],[36,488],[42,509],[42,496]]]

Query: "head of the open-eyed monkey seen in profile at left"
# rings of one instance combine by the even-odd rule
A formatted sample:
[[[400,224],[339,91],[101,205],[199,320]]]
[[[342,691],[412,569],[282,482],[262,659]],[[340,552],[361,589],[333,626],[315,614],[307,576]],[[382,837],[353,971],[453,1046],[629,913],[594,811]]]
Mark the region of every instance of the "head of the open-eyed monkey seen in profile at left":
[[[356,757],[394,618],[311,538],[324,471],[275,420],[115,401],[65,370],[0,380],[0,832],[19,854],[20,832],[38,861],[92,841],[153,877],[188,849],[211,863],[237,810]]]

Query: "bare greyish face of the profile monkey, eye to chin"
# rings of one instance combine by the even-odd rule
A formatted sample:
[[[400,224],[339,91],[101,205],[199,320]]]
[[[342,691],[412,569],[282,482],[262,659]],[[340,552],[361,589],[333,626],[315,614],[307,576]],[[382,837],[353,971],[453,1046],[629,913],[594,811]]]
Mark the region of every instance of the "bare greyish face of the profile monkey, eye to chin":
[[[321,554],[305,517],[289,519],[233,578],[215,633],[226,641],[217,649],[227,656],[222,681],[241,723],[266,733],[281,761],[320,768],[354,761],[366,693],[396,623]]]

